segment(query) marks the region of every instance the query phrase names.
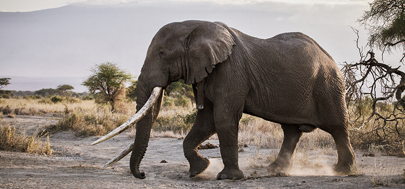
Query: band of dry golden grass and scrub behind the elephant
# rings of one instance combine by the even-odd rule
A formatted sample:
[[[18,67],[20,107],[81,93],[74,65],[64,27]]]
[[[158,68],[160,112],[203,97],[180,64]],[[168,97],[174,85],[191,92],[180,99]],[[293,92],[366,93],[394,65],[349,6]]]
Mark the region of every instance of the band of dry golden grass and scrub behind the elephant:
[[[59,97],[59,96],[58,96]],[[53,133],[59,130],[75,132],[76,136],[104,135],[124,123],[136,112],[136,103],[127,100],[120,104],[119,111],[110,111],[107,104],[95,103],[94,99],[83,100],[76,97],[24,97],[7,98],[0,100],[0,112],[3,116],[15,115],[40,115],[53,113],[59,119],[55,125],[47,126],[46,131]],[[367,99],[366,99],[367,100]],[[152,136],[184,137],[191,129],[197,110],[193,108],[190,98],[184,95],[164,96],[161,111],[152,129]],[[391,104],[380,104],[380,109],[391,108]],[[352,109],[351,115],[356,114],[359,109]],[[364,117],[370,109],[365,106]],[[351,122],[350,138],[352,146],[357,150],[370,152],[392,151],[397,153],[404,148],[405,128],[402,120],[397,124],[386,125],[385,130],[375,130],[379,122],[374,120],[367,124],[359,125],[361,121]],[[388,135],[388,130],[398,131],[395,135]],[[133,128],[134,130],[134,128]],[[131,134],[132,133],[132,134]],[[134,132],[128,133],[134,137]],[[215,138],[214,135],[212,138]],[[261,118],[244,114],[239,124],[239,142],[255,144],[260,147],[278,149],[283,141],[283,131],[279,124],[265,121]],[[297,149],[319,150],[333,149],[334,141],[330,134],[316,129],[311,133],[304,133]]]

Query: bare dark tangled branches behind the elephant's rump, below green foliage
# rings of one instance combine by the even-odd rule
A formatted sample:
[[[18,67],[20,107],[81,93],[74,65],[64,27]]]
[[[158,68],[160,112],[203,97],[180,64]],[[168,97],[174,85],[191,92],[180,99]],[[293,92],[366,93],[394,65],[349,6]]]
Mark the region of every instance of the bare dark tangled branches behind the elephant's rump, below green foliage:
[[[388,137],[399,141],[404,132],[400,125],[405,119],[405,101],[402,98],[405,73],[399,70],[400,67],[392,68],[378,62],[372,51],[364,55],[363,48],[358,44],[359,32],[352,29],[357,34],[360,61],[344,62],[342,68],[346,81],[346,103],[352,115],[350,119],[359,127],[352,130],[359,131],[364,124],[371,124],[373,129],[363,134],[373,134],[381,141]],[[393,105],[389,104],[391,102]],[[371,110],[367,108],[370,106]]]

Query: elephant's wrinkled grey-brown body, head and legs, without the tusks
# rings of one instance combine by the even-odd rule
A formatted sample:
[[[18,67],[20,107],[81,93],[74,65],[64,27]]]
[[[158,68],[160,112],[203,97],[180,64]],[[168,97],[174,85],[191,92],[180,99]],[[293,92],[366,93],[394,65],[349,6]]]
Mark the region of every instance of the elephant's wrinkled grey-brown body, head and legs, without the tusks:
[[[258,39],[220,22],[184,21],[162,27],[152,39],[138,78],[137,110],[154,87],[166,88],[180,79],[204,81],[204,109],[184,140],[189,176],[202,173],[209,160],[197,146],[218,134],[224,169],[217,179],[241,179],[238,166],[238,125],[242,113],[280,123],[284,141],[270,172],[285,170],[303,132],[316,128],[336,143],[334,170],[347,174],[355,156],[348,136],[345,85],[333,59],[303,33]],[[137,178],[161,101],[136,124],[130,169]]]

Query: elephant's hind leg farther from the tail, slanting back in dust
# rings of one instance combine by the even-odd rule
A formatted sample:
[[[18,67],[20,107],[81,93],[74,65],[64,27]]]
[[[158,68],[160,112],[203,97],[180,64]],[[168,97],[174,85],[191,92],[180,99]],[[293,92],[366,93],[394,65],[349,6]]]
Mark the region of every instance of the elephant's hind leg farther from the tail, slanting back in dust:
[[[300,141],[303,131],[299,125],[282,124],[281,128],[284,132],[284,140],[277,159],[269,165],[267,170],[271,173],[285,172],[290,166],[290,160]]]

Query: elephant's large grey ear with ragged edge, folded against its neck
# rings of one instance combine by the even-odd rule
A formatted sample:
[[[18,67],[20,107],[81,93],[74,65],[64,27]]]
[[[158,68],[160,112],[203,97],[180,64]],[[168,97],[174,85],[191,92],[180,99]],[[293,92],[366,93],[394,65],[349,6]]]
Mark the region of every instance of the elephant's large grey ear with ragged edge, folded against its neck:
[[[213,22],[198,25],[188,36],[187,81],[197,84],[202,81],[214,65],[225,61],[232,54],[235,40],[228,30]]]

